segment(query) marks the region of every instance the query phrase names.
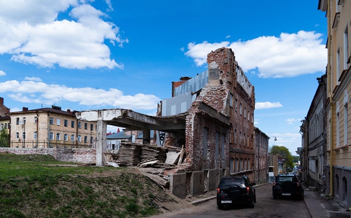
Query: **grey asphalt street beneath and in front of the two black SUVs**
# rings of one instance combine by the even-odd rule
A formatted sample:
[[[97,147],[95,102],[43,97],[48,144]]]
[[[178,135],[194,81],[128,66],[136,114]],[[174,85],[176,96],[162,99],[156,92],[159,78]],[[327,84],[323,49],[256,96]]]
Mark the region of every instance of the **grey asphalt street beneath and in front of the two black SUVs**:
[[[304,200],[296,200],[290,197],[272,197],[272,184],[262,185],[256,188],[255,208],[244,206],[228,206],[224,210],[219,210],[216,199],[202,203],[198,206],[187,208],[181,211],[173,211],[152,216],[152,218],[212,218],[212,217],[291,217],[304,218],[311,217]]]

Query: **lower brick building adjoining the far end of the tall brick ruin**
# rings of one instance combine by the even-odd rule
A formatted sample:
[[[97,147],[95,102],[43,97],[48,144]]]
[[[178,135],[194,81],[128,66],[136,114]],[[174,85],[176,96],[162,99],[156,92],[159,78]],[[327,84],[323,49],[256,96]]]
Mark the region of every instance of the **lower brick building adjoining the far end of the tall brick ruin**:
[[[268,182],[268,141],[269,137],[257,127],[254,127],[255,138],[255,181]]]

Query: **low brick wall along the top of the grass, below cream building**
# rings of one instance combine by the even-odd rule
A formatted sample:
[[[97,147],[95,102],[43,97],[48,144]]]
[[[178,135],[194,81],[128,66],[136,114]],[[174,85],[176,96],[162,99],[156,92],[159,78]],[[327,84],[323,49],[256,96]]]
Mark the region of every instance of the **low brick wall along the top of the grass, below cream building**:
[[[0,148],[0,153],[12,154],[44,154],[51,155],[58,161],[77,163],[95,163],[95,149],[54,149],[54,148]]]

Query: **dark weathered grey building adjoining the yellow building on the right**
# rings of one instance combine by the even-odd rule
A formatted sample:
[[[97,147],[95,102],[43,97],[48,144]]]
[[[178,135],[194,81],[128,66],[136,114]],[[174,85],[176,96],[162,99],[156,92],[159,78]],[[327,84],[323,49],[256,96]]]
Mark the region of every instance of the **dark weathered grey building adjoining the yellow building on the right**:
[[[318,190],[325,190],[325,165],[326,165],[326,119],[325,104],[326,74],[317,78],[318,88],[309,107],[307,117],[302,121],[300,132],[305,142],[305,181]]]

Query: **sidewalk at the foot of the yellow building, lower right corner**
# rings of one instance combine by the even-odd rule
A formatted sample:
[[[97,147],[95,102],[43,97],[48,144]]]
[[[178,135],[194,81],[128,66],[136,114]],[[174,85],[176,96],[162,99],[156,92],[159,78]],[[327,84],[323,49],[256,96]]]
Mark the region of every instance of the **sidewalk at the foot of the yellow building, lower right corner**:
[[[310,190],[304,186],[304,200],[309,213],[312,218],[319,217],[337,217],[349,218],[351,212],[347,211],[335,200],[328,200],[326,197],[321,196],[317,191]]]

